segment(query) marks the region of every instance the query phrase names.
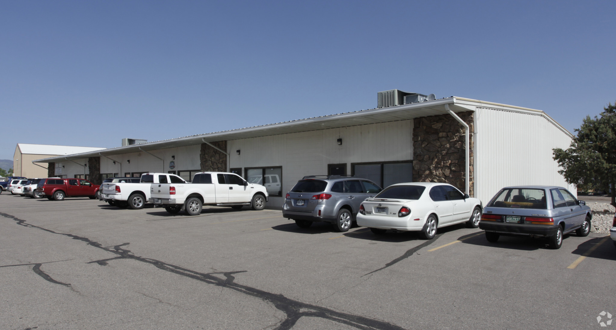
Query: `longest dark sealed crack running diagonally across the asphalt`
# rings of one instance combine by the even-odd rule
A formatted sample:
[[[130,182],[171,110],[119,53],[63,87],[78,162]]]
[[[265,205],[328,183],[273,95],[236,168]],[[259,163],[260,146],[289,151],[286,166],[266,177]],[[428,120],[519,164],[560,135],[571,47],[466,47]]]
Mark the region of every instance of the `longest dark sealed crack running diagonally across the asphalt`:
[[[115,245],[115,246],[102,246],[102,244],[98,242],[94,242],[86,237],[79,237],[73,234],[64,234],[64,233],[54,232],[53,230],[50,230],[50,229],[46,229],[46,228],[39,227],[39,226],[34,226],[33,224],[28,224],[26,223],[25,220],[19,219],[16,216],[13,216],[11,214],[0,213],[0,215],[4,216],[5,218],[13,219],[20,226],[40,229],[46,232],[50,232],[52,234],[64,235],[64,236],[73,238],[73,240],[80,240],[86,243],[87,245],[90,245],[95,248],[99,248],[104,251],[118,255],[118,257],[113,257],[110,259],[102,259],[98,261],[87,262],[88,264],[97,263],[99,265],[105,265],[107,264],[107,261],[111,261],[111,260],[132,259],[134,261],[140,261],[146,264],[151,264],[154,267],[161,269],[161,270],[165,270],[167,272],[171,272],[177,275],[192,278],[193,280],[202,281],[204,283],[208,283],[208,284],[212,284],[216,286],[222,286],[224,288],[237,291],[238,293],[246,294],[247,296],[256,297],[257,299],[260,299],[261,301],[269,302],[270,304],[274,305],[275,308],[285,313],[286,315],[286,318],[284,318],[282,321],[278,323],[278,326],[275,328],[275,330],[291,329],[299,321],[299,319],[304,316],[323,318],[325,320],[330,320],[330,321],[346,324],[347,326],[352,326],[353,328],[357,328],[357,329],[387,329],[387,330],[389,329],[403,330],[404,329],[404,328],[401,328],[400,326],[397,326],[392,323],[388,323],[386,321],[375,320],[375,319],[368,318],[365,316],[352,315],[349,313],[336,312],[334,310],[331,310],[330,308],[325,308],[325,307],[320,307],[317,305],[307,304],[307,303],[300,302],[300,301],[295,301],[293,299],[283,296],[282,294],[269,293],[267,291],[253,288],[251,286],[240,285],[238,283],[235,283],[235,277],[233,275],[237,273],[248,272],[247,270],[240,270],[240,271],[233,271],[233,272],[201,273],[201,272],[190,270],[190,269],[178,266],[178,265],[169,264],[168,262],[158,261],[156,259],[147,258],[147,257],[136,256],[132,254],[129,249],[123,248],[123,246],[129,245],[129,243],[123,243],[123,244]],[[426,243],[424,243],[423,245],[425,245]],[[389,266],[386,266],[386,267],[389,267]],[[224,278],[220,276],[216,276],[216,275],[222,275],[222,277]]]

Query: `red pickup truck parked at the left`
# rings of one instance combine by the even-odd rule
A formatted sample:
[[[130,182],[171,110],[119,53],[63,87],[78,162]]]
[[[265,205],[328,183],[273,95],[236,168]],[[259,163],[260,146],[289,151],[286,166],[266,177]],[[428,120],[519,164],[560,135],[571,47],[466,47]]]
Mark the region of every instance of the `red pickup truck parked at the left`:
[[[36,186],[35,194],[45,196],[49,200],[63,200],[65,197],[87,196],[99,198],[99,185],[84,179],[41,179]]]

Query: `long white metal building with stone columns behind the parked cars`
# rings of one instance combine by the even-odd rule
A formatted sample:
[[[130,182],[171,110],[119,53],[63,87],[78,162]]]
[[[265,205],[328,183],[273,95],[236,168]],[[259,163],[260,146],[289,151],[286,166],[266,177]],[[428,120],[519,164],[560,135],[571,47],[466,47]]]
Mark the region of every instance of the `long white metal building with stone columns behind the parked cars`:
[[[233,171],[265,184],[270,206],[282,205],[298,179],[320,174],[354,174],[383,186],[448,182],[484,203],[508,185],[568,187],[552,149],[568,147],[573,135],[543,111],[453,96],[395,104],[35,162],[89,163],[92,181],[145,172],[192,179],[198,171]],[[70,177],[83,168],[66,171]]]

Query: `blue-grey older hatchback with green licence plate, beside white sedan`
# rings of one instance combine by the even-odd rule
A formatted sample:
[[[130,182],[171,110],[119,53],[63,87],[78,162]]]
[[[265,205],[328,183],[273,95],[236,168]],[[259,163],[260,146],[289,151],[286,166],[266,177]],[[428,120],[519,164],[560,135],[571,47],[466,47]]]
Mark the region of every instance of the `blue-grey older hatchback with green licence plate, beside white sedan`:
[[[559,249],[563,235],[575,230],[590,233],[592,214],[583,200],[557,186],[504,187],[485,206],[479,228],[488,242],[501,235],[547,237],[549,247]]]

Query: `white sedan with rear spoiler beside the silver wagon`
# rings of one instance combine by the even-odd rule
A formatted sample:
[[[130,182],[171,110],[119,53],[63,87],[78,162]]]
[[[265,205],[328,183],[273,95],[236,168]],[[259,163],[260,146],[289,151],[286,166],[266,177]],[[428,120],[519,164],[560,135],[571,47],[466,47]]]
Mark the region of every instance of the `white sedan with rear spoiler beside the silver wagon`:
[[[419,231],[431,240],[437,228],[466,222],[479,227],[482,205],[456,187],[445,183],[398,183],[366,198],[359,206],[357,225],[375,234]]]

